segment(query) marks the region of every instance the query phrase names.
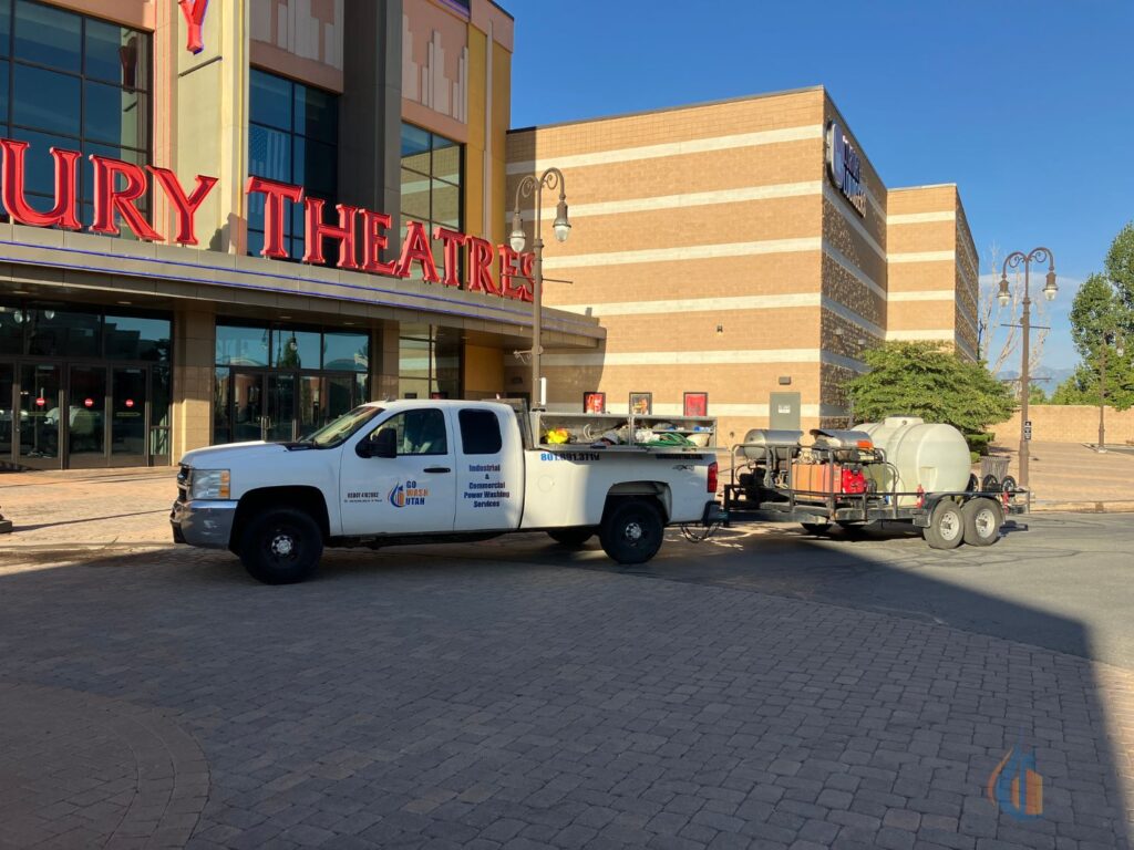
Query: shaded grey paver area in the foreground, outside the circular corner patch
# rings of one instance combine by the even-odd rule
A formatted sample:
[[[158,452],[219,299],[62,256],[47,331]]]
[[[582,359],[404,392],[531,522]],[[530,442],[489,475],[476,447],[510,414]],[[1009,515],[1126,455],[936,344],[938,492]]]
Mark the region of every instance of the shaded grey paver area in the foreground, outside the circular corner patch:
[[[9,558],[0,681],[191,734],[201,850],[1126,847],[1122,724],[1089,661],[468,554],[335,552],[282,588],[227,553]],[[0,699],[0,729],[27,713]],[[1044,781],[1024,822],[987,798],[1021,739]],[[95,746],[65,740],[53,775],[90,775],[90,754],[117,788],[128,759]]]

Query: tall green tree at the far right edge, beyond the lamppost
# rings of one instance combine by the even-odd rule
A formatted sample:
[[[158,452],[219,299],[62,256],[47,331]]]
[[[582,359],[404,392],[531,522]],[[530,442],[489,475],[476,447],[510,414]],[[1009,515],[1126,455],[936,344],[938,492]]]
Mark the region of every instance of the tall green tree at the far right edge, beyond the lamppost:
[[[1128,257],[1124,254],[1123,240],[1129,243]],[[1107,266],[1108,274],[1111,266],[1117,274],[1134,272],[1134,229],[1129,226],[1116,237],[1107,255]],[[1134,275],[1131,282],[1134,294]],[[1112,286],[1105,275],[1092,274],[1083,282],[1070,307],[1070,328],[1082,363],[1056,391],[1056,403],[1098,405],[1102,397],[1106,359],[1107,403],[1119,410],[1134,405],[1134,367],[1128,350],[1134,341],[1134,309],[1127,306],[1117,279]],[[1119,348],[1126,349],[1122,356]]]

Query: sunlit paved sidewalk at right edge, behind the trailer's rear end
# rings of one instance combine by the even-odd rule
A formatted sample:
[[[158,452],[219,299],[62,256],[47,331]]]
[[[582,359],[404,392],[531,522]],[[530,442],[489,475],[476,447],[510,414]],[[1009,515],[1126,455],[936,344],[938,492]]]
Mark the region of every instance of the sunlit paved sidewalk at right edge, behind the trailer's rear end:
[[[1032,509],[1041,511],[1134,511],[1134,454],[1099,453],[1081,443],[1032,442]],[[997,444],[1008,454],[1009,474],[1019,477],[1016,447]]]

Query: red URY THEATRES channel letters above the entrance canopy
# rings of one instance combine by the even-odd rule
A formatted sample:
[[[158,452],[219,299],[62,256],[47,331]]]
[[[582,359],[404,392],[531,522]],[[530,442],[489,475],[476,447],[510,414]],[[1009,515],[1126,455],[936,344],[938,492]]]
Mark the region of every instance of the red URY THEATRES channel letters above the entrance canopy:
[[[198,0],[200,2],[200,0]],[[185,0],[183,0],[185,8]],[[198,7],[194,7],[198,8]],[[204,3],[200,3],[203,10]],[[203,14],[203,11],[202,11]],[[78,219],[77,172],[82,154],[77,151],[50,150],[54,169],[54,203],[50,210],[39,210],[29,203],[26,193],[27,142],[0,138],[3,165],[0,168],[0,201],[11,220],[32,227],[59,227],[82,230]],[[174,241],[197,245],[195,219],[197,210],[217,185],[215,177],[197,175],[192,189],[186,189],[177,176],[156,165],[136,165],[132,162],[91,154],[91,186],[94,194],[94,220],[90,230],[95,233],[118,236],[125,224],[138,239]],[[160,222],[147,220],[138,202],[146,193],[161,192],[169,203],[176,223],[175,231],[162,235]],[[302,204],[304,212],[304,263],[325,264],[324,248],[328,240],[337,244],[336,265],[339,269],[364,271],[392,278],[409,278],[415,270],[422,280],[471,292],[515,300],[530,301],[534,291],[532,279],[535,255],[517,254],[507,245],[493,245],[486,239],[462,233],[445,227],[428,232],[420,221],[406,222],[397,260],[382,260],[390,247],[390,215],[348,204],[335,207],[335,220],[327,221],[327,202],[305,196],[302,186],[249,177],[245,194],[264,198],[264,245],[260,253],[273,260],[288,260],[284,239],[284,222],[290,204]],[[438,271],[433,260],[433,245],[439,245],[443,256],[445,273]],[[466,277],[458,278],[462,252],[467,250]],[[493,267],[497,271],[492,275]],[[499,281],[499,282],[497,282]]]

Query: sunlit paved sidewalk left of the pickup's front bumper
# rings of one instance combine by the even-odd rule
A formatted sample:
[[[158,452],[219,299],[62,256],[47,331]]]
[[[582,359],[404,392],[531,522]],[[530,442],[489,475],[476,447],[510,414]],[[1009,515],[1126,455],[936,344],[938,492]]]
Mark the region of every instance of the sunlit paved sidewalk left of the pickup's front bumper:
[[[149,549],[172,543],[176,467],[0,474],[6,550]]]

